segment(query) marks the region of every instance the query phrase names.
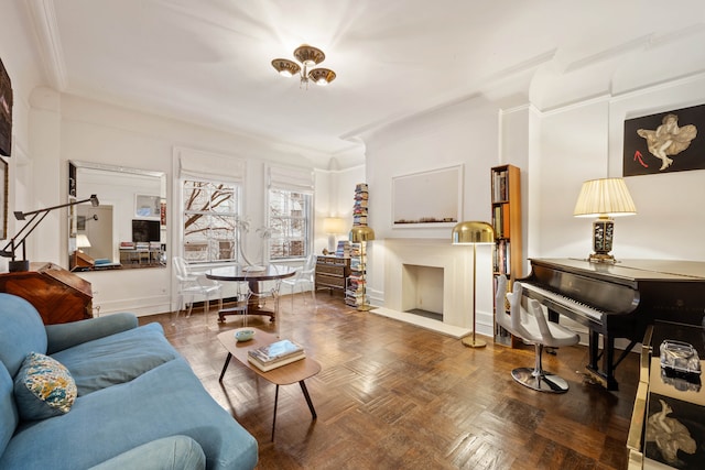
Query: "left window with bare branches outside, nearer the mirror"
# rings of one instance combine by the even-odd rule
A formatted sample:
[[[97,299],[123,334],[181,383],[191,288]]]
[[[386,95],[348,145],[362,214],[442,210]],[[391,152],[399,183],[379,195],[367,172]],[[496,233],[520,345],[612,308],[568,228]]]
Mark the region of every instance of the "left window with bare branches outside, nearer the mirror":
[[[239,193],[239,185],[232,183],[184,181],[183,248],[187,262],[237,260]]]

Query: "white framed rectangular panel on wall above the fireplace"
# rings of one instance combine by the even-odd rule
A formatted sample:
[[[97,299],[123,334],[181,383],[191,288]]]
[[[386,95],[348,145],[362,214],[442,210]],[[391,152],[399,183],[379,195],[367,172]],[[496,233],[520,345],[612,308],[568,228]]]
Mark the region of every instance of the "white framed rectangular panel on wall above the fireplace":
[[[392,178],[393,228],[454,227],[463,212],[463,165]]]

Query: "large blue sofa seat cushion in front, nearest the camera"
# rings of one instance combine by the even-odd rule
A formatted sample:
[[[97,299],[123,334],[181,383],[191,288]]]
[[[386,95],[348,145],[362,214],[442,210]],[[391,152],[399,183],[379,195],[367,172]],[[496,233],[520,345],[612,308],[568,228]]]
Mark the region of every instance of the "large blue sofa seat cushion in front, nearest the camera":
[[[66,429],[70,438],[64,439]],[[21,423],[0,468],[83,469],[162,437],[196,440],[207,468],[252,469],[257,440],[204,389],[178,358],[131,382],[76,398],[70,413]],[[41,449],[41,451],[37,451]]]

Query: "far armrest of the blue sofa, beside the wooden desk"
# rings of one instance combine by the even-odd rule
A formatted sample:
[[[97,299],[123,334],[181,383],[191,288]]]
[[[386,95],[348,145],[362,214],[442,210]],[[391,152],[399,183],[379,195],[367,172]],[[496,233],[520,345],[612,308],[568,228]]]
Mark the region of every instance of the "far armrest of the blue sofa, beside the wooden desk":
[[[120,313],[69,324],[46,325],[46,351],[57,351],[138,327],[134,314]]]

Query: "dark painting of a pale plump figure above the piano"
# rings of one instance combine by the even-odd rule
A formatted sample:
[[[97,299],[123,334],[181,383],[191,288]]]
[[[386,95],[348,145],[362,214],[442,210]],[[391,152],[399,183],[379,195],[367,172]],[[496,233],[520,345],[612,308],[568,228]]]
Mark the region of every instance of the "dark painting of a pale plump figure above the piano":
[[[704,170],[704,129],[705,105],[625,120],[623,176]]]

